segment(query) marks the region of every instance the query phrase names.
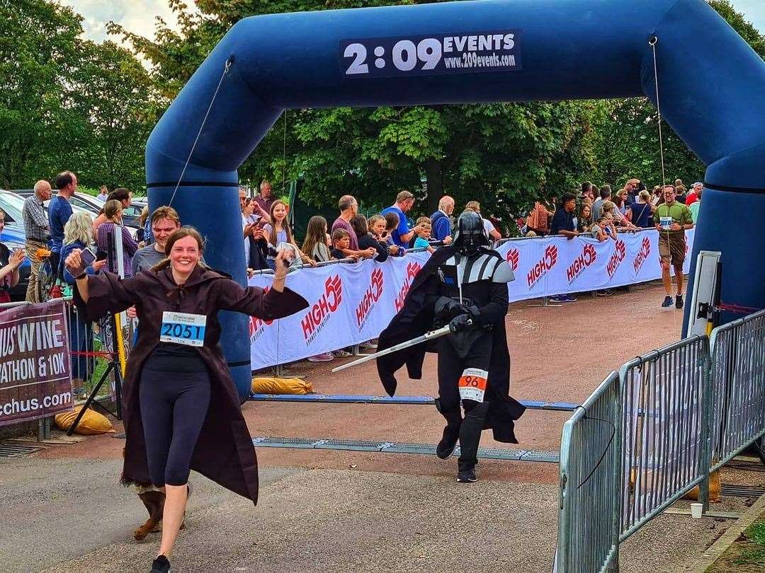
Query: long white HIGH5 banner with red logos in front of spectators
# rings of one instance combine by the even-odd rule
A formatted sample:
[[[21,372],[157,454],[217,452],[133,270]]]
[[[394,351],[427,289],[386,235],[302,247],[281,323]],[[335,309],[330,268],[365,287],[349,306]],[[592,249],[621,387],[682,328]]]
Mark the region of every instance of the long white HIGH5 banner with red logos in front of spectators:
[[[686,232],[686,254],[693,231]],[[591,238],[530,238],[497,248],[513,267],[511,301],[599,290],[661,277],[659,234],[620,234],[617,241]],[[412,279],[428,253],[303,268],[287,275],[287,286],[308,300],[308,309],[275,321],[249,323],[252,370],[286,364],[376,338],[401,308]],[[685,272],[690,265],[685,257]],[[268,289],[272,277],[252,277]]]

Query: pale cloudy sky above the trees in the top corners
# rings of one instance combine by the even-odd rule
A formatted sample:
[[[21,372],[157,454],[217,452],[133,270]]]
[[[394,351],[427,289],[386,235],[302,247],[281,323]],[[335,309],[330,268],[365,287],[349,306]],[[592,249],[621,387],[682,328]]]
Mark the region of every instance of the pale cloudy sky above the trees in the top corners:
[[[110,20],[122,24],[129,31],[142,36],[153,37],[155,18],[161,16],[168,24],[174,25],[175,18],[168,8],[167,0],[59,0],[70,5],[83,16],[85,34],[92,40],[106,38],[106,23]],[[194,6],[194,0],[186,0]],[[732,0],[737,11],[765,34],[765,0]]]

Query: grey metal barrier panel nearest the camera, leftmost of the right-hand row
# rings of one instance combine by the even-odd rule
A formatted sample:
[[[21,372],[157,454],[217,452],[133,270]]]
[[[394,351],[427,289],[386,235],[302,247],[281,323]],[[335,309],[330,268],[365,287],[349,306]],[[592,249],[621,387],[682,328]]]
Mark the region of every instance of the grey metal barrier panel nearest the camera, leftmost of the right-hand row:
[[[612,372],[563,426],[558,571],[591,573],[618,562],[619,386]]]

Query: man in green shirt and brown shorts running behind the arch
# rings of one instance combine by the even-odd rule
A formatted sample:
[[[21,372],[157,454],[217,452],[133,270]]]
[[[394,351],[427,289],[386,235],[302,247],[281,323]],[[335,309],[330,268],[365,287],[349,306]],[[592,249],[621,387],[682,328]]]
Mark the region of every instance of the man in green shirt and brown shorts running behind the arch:
[[[669,265],[675,267],[677,296],[675,308],[682,309],[682,264],[685,261],[685,230],[693,228],[693,219],[688,207],[675,201],[675,187],[662,187],[664,202],[656,207],[653,222],[659,231],[659,258],[662,261],[662,281],[666,296],[662,306],[672,306],[672,277]]]

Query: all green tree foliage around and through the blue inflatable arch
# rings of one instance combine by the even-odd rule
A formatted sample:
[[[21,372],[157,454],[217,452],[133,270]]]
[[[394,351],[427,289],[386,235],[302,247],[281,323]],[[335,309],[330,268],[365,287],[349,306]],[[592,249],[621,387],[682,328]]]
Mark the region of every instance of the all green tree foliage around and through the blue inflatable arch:
[[[709,0],[765,57],[765,37],[728,0]],[[0,0],[0,183],[29,186],[58,170],[84,184],[145,184],[148,134],[226,31],[251,15],[389,5],[393,0],[168,0],[153,39],[110,23],[132,47],[83,40],[81,18],[50,0]],[[425,3],[402,0],[399,4]],[[35,30],[37,34],[27,34]],[[148,67],[148,72],[146,68]],[[385,206],[401,189],[430,212],[444,193],[478,199],[495,215],[521,213],[539,196],[581,180],[661,180],[656,110],[645,98],[286,112],[239,169],[257,184],[301,179],[315,206],[353,193]],[[662,124],[666,179],[700,179],[704,167]]]

